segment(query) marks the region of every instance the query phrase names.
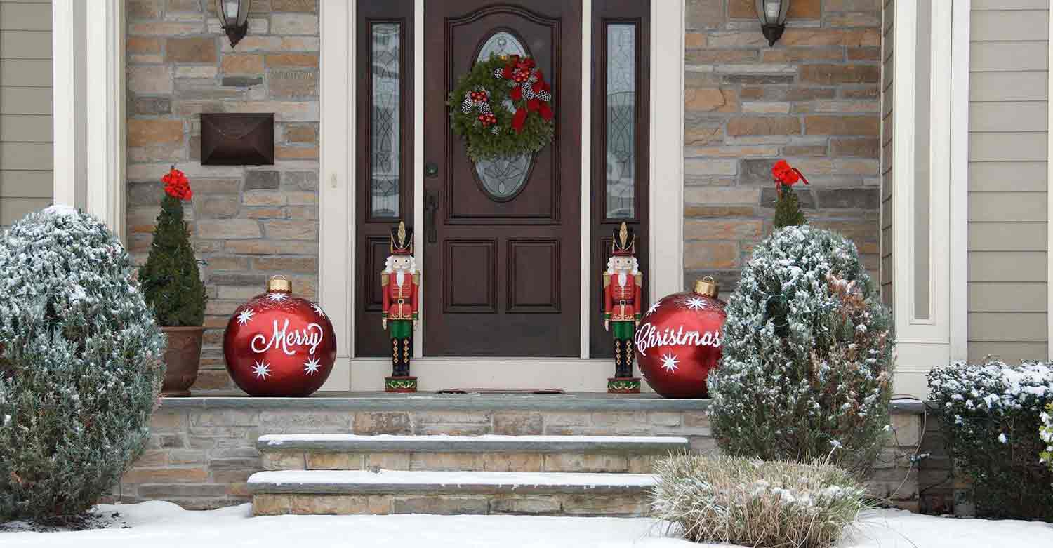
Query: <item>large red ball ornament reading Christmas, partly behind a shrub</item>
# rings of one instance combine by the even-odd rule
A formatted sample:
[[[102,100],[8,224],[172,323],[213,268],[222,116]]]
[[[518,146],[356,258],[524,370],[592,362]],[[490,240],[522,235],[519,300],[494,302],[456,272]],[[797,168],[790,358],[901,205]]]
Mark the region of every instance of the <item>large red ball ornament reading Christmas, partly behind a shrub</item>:
[[[663,297],[636,328],[636,359],[648,384],[665,398],[707,398],[706,379],[720,362],[728,314],[717,285],[699,280],[695,290]]]

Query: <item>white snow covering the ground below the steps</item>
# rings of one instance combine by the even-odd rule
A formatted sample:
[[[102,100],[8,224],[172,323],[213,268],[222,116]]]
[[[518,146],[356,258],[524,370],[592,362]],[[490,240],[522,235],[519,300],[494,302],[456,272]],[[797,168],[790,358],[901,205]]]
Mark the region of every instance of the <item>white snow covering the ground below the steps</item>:
[[[689,548],[661,537],[653,520],[513,515],[276,515],[251,517],[246,505],[186,511],[147,502],[97,508],[120,512],[117,526],[79,532],[0,532],[4,548]],[[954,520],[875,510],[842,548],[1033,548],[1053,546],[1053,524]],[[728,547],[724,547],[728,548]]]

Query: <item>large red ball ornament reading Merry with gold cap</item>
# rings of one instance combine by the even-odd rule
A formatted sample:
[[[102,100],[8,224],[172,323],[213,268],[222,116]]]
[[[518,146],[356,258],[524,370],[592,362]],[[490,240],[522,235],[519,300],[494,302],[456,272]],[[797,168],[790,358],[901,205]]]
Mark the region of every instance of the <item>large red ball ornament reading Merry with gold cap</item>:
[[[267,292],[239,306],[226,324],[226,370],[250,395],[311,395],[333,371],[333,324],[292,291],[292,282],[273,278]]]

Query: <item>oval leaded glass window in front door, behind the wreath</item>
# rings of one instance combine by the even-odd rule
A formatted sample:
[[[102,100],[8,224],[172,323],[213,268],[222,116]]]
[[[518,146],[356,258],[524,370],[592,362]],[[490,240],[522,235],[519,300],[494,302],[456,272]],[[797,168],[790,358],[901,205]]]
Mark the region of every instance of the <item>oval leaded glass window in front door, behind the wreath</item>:
[[[491,54],[500,56],[518,55],[526,56],[526,47],[518,38],[511,33],[498,31],[483,42],[479,48],[479,56],[476,61],[486,61]],[[505,101],[504,108],[515,111],[512,101]],[[480,160],[475,163],[475,172],[479,176],[482,190],[495,202],[506,202],[512,200],[522,190],[526,184],[526,176],[530,175],[530,166],[534,162],[534,155],[519,155],[512,158],[499,158],[495,160]]]

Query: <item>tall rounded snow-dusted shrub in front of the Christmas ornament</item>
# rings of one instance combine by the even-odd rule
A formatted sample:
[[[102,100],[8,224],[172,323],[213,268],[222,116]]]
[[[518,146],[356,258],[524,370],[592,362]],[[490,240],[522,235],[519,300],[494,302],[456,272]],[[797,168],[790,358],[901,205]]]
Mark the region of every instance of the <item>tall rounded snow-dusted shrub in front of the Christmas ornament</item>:
[[[710,418],[737,456],[873,463],[889,425],[889,311],[855,245],[818,228],[776,230],[729,300]]]

